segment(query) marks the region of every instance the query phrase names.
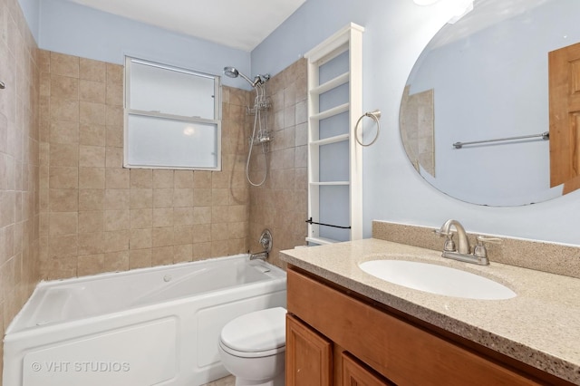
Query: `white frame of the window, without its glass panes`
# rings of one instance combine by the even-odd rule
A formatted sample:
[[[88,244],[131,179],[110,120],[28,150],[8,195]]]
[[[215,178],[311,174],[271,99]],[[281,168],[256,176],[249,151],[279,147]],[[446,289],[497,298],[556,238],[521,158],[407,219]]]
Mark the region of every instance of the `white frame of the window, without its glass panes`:
[[[131,109],[131,63],[140,63],[150,65],[159,69],[174,72],[187,73],[194,76],[213,79],[214,81],[214,119],[204,119],[200,117],[188,117],[162,113],[159,111],[140,111]],[[188,170],[221,170],[221,78],[218,75],[212,75],[204,72],[197,72],[169,64],[155,63],[147,60],[138,59],[131,56],[125,56],[125,97],[124,97],[124,129],[123,129],[123,167],[131,169],[188,169]],[[215,167],[198,166],[198,165],[169,165],[155,164],[154,162],[143,162],[142,164],[129,163],[130,135],[129,135],[129,117],[143,116],[167,121],[184,121],[192,124],[205,126],[215,126],[216,133],[216,163]],[[158,140],[163,140],[161,137]]]

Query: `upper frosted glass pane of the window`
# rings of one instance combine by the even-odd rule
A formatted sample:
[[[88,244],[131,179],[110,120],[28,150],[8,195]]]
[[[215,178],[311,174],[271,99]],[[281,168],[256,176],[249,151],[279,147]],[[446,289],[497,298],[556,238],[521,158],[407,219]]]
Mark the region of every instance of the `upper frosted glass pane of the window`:
[[[131,61],[131,110],[216,119],[214,78]]]

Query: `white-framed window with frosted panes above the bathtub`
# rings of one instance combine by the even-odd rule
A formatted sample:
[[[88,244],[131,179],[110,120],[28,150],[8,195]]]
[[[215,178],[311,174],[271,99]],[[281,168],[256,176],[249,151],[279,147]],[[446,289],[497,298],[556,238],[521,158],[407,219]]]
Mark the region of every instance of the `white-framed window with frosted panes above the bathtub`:
[[[221,169],[219,77],[127,57],[124,166]]]

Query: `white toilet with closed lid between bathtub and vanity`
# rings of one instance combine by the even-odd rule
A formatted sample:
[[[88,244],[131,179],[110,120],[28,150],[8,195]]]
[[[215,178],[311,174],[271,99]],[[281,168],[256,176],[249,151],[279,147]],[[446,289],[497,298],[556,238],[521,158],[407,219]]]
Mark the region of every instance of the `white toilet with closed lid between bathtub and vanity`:
[[[283,307],[238,316],[219,336],[219,356],[236,386],[284,386],[285,315]]]

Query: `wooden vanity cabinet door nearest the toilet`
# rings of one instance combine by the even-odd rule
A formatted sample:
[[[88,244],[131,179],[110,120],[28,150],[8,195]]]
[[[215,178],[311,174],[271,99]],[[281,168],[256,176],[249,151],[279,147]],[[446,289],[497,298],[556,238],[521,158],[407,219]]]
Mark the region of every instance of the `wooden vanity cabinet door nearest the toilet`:
[[[331,386],[333,345],[286,314],[286,386]]]

